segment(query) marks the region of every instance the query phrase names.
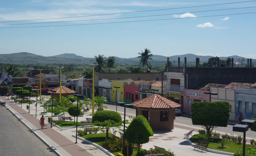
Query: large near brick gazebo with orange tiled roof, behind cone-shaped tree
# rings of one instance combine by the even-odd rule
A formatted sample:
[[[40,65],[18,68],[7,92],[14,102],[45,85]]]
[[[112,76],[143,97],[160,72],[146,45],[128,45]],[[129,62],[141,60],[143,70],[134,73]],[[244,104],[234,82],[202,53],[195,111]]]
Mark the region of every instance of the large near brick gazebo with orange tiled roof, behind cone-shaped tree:
[[[131,103],[136,109],[136,116],[147,118],[153,130],[174,129],[174,108],[181,107],[171,100],[157,94]]]

